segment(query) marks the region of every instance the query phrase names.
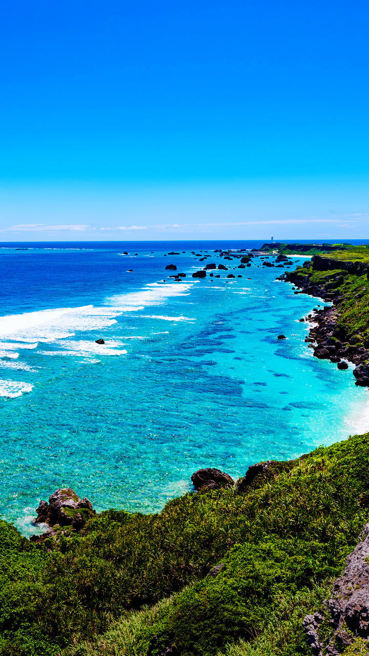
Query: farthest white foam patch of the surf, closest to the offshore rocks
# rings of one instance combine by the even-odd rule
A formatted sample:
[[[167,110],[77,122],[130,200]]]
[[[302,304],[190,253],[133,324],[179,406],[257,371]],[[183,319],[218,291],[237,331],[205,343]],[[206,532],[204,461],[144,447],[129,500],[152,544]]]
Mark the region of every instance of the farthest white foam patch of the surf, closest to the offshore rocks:
[[[192,284],[189,283],[148,283],[140,291],[128,294],[119,294],[106,299],[106,302],[112,306],[153,306],[162,305],[169,297],[188,296],[188,291]],[[121,308],[120,308],[121,309]]]

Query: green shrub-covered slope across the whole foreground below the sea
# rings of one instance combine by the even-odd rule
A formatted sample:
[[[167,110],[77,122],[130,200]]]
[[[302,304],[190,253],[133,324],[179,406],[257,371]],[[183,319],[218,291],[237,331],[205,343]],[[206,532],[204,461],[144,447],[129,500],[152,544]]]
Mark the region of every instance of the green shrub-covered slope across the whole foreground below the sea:
[[[1,522],[0,654],[307,654],[303,615],[368,517],[368,438],[275,463],[245,494],[110,510],[45,544]]]

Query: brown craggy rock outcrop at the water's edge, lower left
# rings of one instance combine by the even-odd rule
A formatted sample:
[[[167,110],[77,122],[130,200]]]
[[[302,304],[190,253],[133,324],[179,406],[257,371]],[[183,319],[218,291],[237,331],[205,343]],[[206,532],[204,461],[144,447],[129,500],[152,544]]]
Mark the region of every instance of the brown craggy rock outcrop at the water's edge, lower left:
[[[55,524],[68,526],[76,519],[77,510],[88,511],[87,513],[83,512],[84,515],[94,512],[89,499],[86,499],[86,497],[79,499],[79,496],[70,487],[60,488],[49,497],[49,503],[47,501],[40,501],[36,509],[37,519],[35,523],[42,522],[49,526],[54,526]]]

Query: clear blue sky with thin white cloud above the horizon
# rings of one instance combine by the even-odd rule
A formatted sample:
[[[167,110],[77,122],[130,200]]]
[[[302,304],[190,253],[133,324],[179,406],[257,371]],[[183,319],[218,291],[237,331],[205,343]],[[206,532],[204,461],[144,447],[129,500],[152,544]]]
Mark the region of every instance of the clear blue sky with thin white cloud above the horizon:
[[[368,18],[3,3],[0,241],[368,238]]]

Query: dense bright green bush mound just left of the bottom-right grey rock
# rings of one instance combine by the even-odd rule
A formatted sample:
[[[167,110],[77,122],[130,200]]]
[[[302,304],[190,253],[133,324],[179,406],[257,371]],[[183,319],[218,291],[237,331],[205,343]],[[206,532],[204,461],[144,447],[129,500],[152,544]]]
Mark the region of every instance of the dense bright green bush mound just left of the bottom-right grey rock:
[[[233,548],[216,577],[186,588],[142,632],[142,654],[171,647],[181,656],[211,656],[227,642],[253,640],[281,596],[337,573],[326,544],[272,539]]]

